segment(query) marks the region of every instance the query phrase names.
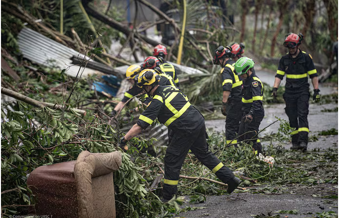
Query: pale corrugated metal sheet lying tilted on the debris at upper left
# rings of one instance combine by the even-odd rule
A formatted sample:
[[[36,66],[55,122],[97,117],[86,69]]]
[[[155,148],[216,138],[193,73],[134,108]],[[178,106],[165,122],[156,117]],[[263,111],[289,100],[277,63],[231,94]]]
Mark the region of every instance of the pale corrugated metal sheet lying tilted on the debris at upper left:
[[[67,69],[70,66],[65,73],[71,77],[77,76],[80,67],[72,64],[72,56],[78,56],[80,60],[83,60],[84,57],[85,60],[89,59],[78,51],[57,43],[29,28],[23,28],[20,31],[17,42],[24,58],[44,66],[60,69]],[[93,60],[90,60],[90,62],[93,62]],[[84,67],[82,67],[82,70],[84,70],[82,77],[99,73],[99,71]]]

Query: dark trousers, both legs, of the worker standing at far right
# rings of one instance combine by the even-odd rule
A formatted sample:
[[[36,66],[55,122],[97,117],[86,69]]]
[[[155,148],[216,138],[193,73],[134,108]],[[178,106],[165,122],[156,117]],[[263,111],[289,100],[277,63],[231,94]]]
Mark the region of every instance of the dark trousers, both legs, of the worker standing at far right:
[[[286,114],[289,118],[290,127],[295,128],[291,133],[291,142],[299,144],[301,142],[308,143],[308,107],[309,107],[308,91],[300,93],[284,93],[283,98],[286,102]]]

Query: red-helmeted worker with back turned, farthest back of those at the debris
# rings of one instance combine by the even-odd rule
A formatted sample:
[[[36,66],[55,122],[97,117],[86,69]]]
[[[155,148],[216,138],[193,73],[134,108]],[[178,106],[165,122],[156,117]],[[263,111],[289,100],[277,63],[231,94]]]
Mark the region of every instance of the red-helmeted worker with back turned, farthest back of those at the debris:
[[[175,81],[176,86],[179,87],[179,80],[177,78],[177,71],[175,67],[171,63],[165,61],[165,56],[167,54],[167,48],[161,44],[158,44],[156,47],[153,48],[153,56],[158,58],[161,62],[159,67],[164,73],[170,75]]]

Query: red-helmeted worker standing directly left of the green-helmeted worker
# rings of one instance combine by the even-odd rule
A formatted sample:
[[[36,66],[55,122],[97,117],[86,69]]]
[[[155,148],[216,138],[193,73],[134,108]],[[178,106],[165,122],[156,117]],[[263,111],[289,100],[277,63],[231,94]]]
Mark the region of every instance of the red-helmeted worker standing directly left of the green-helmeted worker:
[[[230,59],[231,48],[220,46],[215,50],[214,64],[219,64],[222,77],[222,108],[221,112],[225,118],[225,138],[227,144],[237,143],[239,122],[242,118],[242,81],[234,72],[234,64]]]

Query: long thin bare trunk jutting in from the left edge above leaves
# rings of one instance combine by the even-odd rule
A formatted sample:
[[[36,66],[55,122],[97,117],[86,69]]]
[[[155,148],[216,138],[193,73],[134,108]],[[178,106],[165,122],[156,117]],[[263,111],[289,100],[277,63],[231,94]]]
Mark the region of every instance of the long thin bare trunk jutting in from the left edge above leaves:
[[[26,95],[14,92],[13,90],[7,89],[5,87],[1,86],[1,93],[14,97],[17,100],[23,101],[27,104],[33,105],[35,107],[38,108],[44,108],[44,107],[49,107],[52,109],[58,109],[58,110],[65,110],[68,112],[72,112],[70,108],[66,108],[65,106],[62,105],[58,105],[58,104],[53,104],[53,103],[48,103],[48,102],[42,102],[42,101],[37,101],[34,100],[33,98],[27,97]],[[73,111],[82,114],[83,116],[86,115],[86,110],[81,110],[81,109],[76,109],[76,108],[72,108]]]

